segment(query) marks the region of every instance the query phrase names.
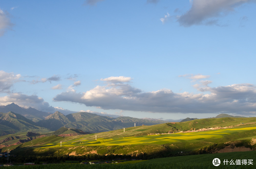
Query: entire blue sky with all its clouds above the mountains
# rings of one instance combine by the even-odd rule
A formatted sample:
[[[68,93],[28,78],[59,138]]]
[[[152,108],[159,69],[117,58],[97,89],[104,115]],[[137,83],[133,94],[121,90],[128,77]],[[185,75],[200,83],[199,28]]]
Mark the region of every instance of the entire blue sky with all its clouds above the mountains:
[[[256,115],[254,0],[0,0],[0,105]]]

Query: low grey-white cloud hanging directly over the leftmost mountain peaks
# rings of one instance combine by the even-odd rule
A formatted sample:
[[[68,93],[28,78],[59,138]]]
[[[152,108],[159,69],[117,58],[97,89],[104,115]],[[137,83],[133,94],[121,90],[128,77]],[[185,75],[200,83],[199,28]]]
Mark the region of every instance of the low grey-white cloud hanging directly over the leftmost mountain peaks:
[[[37,95],[26,95],[20,93],[10,93],[7,96],[0,97],[0,105],[8,105],[15,103],[21,107],[32,107],[40,111],[52,112],[55,111],[54,107],[45,102],[43,98]]]

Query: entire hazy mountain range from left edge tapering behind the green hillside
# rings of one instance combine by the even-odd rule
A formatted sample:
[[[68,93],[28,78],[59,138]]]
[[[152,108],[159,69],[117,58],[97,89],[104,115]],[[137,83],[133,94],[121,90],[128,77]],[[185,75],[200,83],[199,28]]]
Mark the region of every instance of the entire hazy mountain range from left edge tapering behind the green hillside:
[[[37,133],[46,133],[58,130],[61,127],[75,128],[84,132],[95,133],[132,127],[134,123],[137,126],[167,123],[167,121],[163,120],[148,120],[133,117],[114,118],[87,112],[64,115],[56,111],[54,114],[50,114],[31,107],[25,109],[14,103],[1,106],[0,112],[2,112],[0,114],[1,136],[28,130]]]

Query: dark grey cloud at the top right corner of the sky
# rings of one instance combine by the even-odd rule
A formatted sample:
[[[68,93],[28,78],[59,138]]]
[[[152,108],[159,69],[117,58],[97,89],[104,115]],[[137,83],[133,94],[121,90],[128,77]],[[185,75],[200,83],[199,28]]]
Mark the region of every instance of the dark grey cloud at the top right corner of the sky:
[[[181,26],[219,25],[218,18],[234,11],[234,8],[252,0],[193,0],[187,13],[179,16],[177,21]]]

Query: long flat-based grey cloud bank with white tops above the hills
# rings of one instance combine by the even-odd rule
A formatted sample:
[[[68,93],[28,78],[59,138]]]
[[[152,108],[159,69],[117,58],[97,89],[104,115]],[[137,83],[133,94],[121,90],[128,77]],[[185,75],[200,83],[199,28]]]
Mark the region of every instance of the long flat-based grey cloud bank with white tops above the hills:
[[[200,79],[200,78],[199,78]],[[194,87],[201,93],[174,93],[169,89],[143,92],[129,84],[106,84],[83,93],[63,92],[54,101],[68,101],[102,109],[165,113],[255,114],[256,87],[252,84],[209,87],[201,81]],[[204,93],[206,92],[206,93]]]

